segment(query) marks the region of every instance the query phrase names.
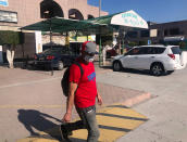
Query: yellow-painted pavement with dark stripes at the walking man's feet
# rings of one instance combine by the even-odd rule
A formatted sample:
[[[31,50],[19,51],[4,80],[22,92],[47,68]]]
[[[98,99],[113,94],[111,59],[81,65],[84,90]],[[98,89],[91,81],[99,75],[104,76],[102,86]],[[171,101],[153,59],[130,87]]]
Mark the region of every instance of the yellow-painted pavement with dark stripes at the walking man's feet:
[[[125,135],[129,131],[133,131],[138,126],[146,122],[148,119],[146,116],[124,105],[110,105],[97,112],[97,120],[100,129],[99,142],[114,142],[116,139]],[[58,127],[48,130],[46,132],[39,132],[39,133],[40,137],[38,138],[26,138],[18,140],[17,142],[61,141]],[[57,139],[54,140],[53,137],[51,135],[55,135],[54,138],[59,138],[59,140]],[[73,131],[73,135],[71,137],[71,140],[73,142],[82,142],[84,140],[86,141],[86,139],[87,139],[87,130],[84,129]]]

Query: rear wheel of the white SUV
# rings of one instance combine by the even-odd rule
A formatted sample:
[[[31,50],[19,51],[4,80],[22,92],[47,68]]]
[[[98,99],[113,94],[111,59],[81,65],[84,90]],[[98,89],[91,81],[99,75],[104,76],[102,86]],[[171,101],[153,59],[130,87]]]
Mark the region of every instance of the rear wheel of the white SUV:
[[[161,76],[163,75],[163,73],[164,73],[164,68],[162,64],[157,63],[151,66],[151,74],[153,76]]]

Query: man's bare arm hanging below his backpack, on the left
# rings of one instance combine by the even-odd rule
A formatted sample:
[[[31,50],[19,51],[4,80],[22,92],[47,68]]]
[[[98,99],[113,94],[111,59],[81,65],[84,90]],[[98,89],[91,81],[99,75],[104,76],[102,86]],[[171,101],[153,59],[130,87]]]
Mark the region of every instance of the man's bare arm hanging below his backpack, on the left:
[[[77,89],[77,83],[70,82],[70,92],[68,92],[67,102],[66,102],[66,113],[62,119],[65,122],[71,121],[71,118],[72,118],[72,108],[74,105],[74,96],[75,96],[76,89]]]

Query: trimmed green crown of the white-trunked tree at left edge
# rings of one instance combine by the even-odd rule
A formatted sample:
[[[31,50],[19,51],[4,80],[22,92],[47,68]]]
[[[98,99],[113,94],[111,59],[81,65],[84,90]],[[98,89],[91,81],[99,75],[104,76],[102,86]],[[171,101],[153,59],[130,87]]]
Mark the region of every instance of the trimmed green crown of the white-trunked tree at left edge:
[[[1,30],[0,44],[20,44],[22,42],[22,34],[18,31]]]

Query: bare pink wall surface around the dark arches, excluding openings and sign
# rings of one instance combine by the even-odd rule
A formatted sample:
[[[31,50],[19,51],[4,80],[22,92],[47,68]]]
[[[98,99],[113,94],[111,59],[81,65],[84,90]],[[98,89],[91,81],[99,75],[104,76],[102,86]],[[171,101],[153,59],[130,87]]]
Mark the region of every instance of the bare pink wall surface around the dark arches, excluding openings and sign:
[[[22,27],[36,22],[40,18],[40,3],[42,0],[8,0],[9,7],[0,5],[0,10],[17,12],[18,23],[1,23],[0,26]],[[99,8],[87,4],[87,0],[54,0],[62,9],[64,17],[68,18],[68,10],[77,9],[87,20],[88,15],[99,16]],[[107,15],[108,12],[101,12],[101,15]]]

